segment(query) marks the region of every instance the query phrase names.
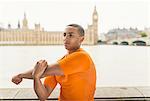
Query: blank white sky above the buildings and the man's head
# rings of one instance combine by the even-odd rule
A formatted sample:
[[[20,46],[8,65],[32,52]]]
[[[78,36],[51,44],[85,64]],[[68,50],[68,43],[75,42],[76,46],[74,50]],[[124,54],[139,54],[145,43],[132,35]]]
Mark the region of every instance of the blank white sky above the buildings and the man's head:
[[[63,31],[70,23],[87,28],[92,24],[94,6],[98,12],[98,32],[113,28],[150,28],[149,0],[0,0],[0,26],[17,28],[24,12],[29,28],[40,23],[47,31]]]

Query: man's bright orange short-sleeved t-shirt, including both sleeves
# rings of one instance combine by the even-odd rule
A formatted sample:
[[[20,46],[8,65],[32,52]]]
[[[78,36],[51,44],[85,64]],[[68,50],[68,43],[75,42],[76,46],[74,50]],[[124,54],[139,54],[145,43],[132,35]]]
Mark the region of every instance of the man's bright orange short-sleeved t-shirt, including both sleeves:
[[[58,60],[58,64],[64,76],[48,76],[44,84],[50,88],[60,84],[59,100],[94,101],[96,70],[88,53],[80,48]]]

